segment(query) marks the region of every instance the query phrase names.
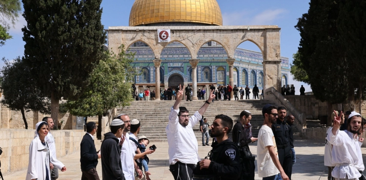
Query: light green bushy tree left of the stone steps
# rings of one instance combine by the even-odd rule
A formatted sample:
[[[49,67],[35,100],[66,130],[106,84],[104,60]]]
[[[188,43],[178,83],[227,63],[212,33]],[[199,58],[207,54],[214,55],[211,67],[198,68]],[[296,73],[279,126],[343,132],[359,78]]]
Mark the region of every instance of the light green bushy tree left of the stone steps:
[[[104,58],[90,74],[90,85],[77,101],[68,101],[66,106],[73,115],[98,116],[102,126],[102,117],[109,109],[128,106],[133,100],[131,84],[136,72],[131,66],[134,54],[119,47],[118,54],[104,53]],[[102,128],[98,128],[97,137],[102,137]]]

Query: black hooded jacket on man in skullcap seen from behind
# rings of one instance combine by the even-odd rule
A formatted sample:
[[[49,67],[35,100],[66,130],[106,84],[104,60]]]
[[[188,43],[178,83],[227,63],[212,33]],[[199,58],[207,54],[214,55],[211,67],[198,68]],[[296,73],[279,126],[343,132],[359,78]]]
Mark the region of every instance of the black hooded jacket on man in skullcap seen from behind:
[[[125,180],[122,171],[121,149],[118,144],[119,140],[113,133],[104,134],[101,145],[103,180]]]

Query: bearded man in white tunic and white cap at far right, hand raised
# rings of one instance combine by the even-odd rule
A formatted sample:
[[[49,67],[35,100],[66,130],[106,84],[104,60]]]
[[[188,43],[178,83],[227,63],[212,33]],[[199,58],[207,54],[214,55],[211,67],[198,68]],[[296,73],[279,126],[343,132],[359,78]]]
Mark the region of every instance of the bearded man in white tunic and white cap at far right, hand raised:
[[[332,163],[335,164],[335,167],[332,177],[340,180],[358,180],[361,177],[359,171],[365,169],[357,135],[357,131],[361,127],[362,116],[353,111],[348,117],[345,131],[339,130],[341,117],[335,114],[331,133],[326,137],[327,141],[333,145]]]

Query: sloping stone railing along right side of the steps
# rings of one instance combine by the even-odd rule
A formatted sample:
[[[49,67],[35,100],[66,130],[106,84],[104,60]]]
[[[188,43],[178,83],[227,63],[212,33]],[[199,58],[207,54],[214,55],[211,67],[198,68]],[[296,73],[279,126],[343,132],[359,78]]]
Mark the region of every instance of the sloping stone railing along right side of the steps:
[[[281,104],[281,106],[284,106],[288,109],[288,111],[291,112],[291,114],[299,123],[299,126],[297,127],[303,133],[303,128],[306,127],[306,114],[297,110],[297,108],[295,108],[280,92],[278,92],[273,87],[266,89],[265,94],[266,95],[264,96],[264,99],[272,100],[278,104]]]

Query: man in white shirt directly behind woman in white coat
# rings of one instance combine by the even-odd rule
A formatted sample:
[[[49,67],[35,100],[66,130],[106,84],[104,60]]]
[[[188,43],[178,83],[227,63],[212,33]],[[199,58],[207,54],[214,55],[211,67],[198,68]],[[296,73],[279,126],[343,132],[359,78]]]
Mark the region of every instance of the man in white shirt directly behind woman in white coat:
[[[51,129],[53,129],[53,126],[55,124],[53,123],[53,119],[50,117],[44,117],[42,121],[46,122],[48,124],[48,134],[45,138],[49,148],[50,148],[50,171],[51,171],[51,180],[57,180],[59,178],[59,171],[60,169],[62,172],[66,171],[65,165],[63,165],[62,162],[57,160],[56,158],[56,145],[55,145],[55,138],[51,134]]]

